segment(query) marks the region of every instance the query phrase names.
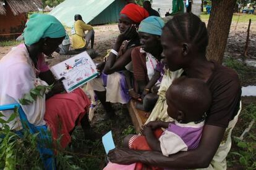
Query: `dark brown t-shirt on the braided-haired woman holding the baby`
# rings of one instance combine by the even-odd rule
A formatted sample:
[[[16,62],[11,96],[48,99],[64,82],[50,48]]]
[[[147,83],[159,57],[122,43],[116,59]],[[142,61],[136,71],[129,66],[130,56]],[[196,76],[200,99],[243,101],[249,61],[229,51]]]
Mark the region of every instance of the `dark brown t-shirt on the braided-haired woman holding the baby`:
[[[241,84],[236,71],[217,63],[214,65],[213,73],[207,81],[212,102],[205,124],[226,128],[239,110]]]

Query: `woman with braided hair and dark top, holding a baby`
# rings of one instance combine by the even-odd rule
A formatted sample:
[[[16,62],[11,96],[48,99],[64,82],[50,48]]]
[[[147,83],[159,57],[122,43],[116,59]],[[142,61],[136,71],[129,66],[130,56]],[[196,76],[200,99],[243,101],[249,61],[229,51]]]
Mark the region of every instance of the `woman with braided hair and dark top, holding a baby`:
[[[231,148],[231,131],[236,124],[239,109],[241,109],[241,86],[235,71],[218,63],[207,61],[205,57],[208,44],[207,34],[205,23],[196,15],[186,13],[176,15],[172,20],[169,20],[164,26],[161,36],[163,57],[169,70],[177,71],[182,68],[184,70],[182,75],[186,76],[186,79],[200,79],[201,84],[202,82],[206,84],[210,91],[211,104],[209,108],[205,107],[205,109],[207,108],[205,123],[200,140],[197,140],[197,143],[200,141],[198,146],[192,148],[192,150],[189,150],[188,147],[186,152],[170,152],[171,155],[166,152],[167,154],[163,154],[165,152],[163,152],[164,147],[161,146],[161,141],[163,141],[161,137],[165,136],[166,131],[160,139],[156,140],[157,138],[153,135],[154,130],[157,127],[168,127],[167,131],[169,131],[169,128],[173,125],[153,121],[143,128],[143,134],[149,149],[153,151],[116,148],[108,154],[112,163],[142,163],[143,168],[150,166],[151,168],[159,167],[163,169],[226,169],[226,156]],[[200,103],[203,102],[195,102],[192,106],[189,102],[186,102],[189,100],[189,94],[194,90],[188,91],[187,95],[183,96],[181,87],[176,85],[176,89],[174,88],[175,84],[179,85],[181,83],[179,82],[180,79],[177,81],[173,82],[171,89],[168,89],[167,92],[168,115],[171,114],[172,116],[173,110],[176,110],[174,113],[177,115],[174,118],[176,122],[179,121],[181,126],[187,123],[197,124],[195,121],[198,116],[193,114],[202,113],[203,110],[198,110],[202,107]],[[196,84],[198,86],[198,83]],[[186,85],[189,89],[192,87],[190,81],[185,81],[181,85]],[[179,95],[179,91],[181,95]],[[198,93],[197,95],[198,97],[200,95],[207,97],[207,93]],[[182,103],[183,105],[181,105]],[[192,108],[187,110],[188,107]],[[198,113],[194,113],[197,111]],[[186,117],[190,118],[187,119]],[[175,126],[173,128],[175,129]],[[192,140],[189,135],[184,137],[187,140]],[[132,136],[132,138],[125,141],[126,147],[136,148],[135,144],[140,144],[139,140],[141,139],[142,137],[134,139],[134,136]],[[145,139],[143,140],[145,141]],[[168,141],[171,142],[171,140],[173,138]],[[185,140],[184,143],[186,144]],[[128,144],[129,146],[127,146]],[[168,145],[166,145],[166,150],[169,150]],[[179,151],[182,151],[182,148],[179,148]]]

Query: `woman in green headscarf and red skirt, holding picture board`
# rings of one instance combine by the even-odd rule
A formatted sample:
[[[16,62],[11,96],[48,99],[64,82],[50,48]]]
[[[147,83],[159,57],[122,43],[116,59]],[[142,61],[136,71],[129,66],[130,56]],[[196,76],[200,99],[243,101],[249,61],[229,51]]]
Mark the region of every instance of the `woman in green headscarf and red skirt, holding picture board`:
[[[26,24],[23,36],[24,44],[14,47],[0,60],[0,105],[19,103],[19,99],[36,86],[54,84],[51,91],[36,97],[30,105],[21,105],[29,123],[35,126],[47,124],[53,139],[61,137],[62,147],[70,142],[70,132],[81,123],[85,137],[92,138],[87,116],[90,100],[82,89],[70,94],[61,94],[64,87],[61,81],[54,79],[45,63],[45,55],[52,54],[66,35],[61,22],[51,15],[33,14]],[[6,119],[9,111],[4,111]],[[18,131],[19,118],[10,124]]]

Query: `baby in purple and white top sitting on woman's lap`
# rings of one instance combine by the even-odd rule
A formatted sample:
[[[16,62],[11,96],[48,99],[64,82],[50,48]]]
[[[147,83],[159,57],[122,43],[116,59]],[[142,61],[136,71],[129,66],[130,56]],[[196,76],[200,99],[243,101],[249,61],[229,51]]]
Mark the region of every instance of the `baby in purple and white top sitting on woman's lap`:
[[[125,139],[124,145],[135,150],[155,150],[165,156],[197,148],[202,136],[205,113],[211,104],[207,84],[200,79],[177,78],[166,92],[166,102],[168,115],[174,121],[151,121],[143,127],[143,136],[134,135]],[[166,130],[162,131],[160,127]],[[106,169],[120,169],[122,166],[124,165],[108,164]],[[147,168],[161,169],[142,163],[135,163],[130,169]]]

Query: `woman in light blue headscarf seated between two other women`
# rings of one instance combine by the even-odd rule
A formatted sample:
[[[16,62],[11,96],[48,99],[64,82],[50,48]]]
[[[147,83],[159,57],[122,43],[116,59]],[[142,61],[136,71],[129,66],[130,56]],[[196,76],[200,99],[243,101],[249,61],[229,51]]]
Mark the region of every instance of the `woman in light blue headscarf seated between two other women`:
[[[134,67],[134,79],[137,83],[135,91],[140,95],[136,104],[141,110],[150,111],[158,99],[158,88],[163,78],[164,70],[161,62],[163,51],[160,42],[164,22],[160,17],[151,16],[145,18],[139,26],[141,46],[135,47],[132,51],[132,65]],[[135,91],[130,94],[135,94]]]

